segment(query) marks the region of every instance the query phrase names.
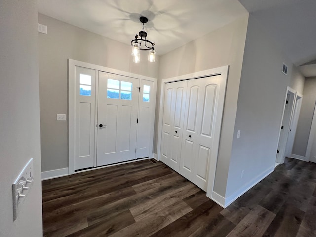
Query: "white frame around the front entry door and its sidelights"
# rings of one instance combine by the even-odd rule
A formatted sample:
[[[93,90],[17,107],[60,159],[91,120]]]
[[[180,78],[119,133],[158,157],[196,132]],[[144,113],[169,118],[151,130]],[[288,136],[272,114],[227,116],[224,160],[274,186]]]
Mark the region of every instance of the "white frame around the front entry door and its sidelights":
[[[126,76],[126,77],[131,77],[131,78],[136,78],[136,79],[144,79],[144,80],[149,80],[154,82],[154,91],[156,93],[157,91],[157,79],[148,77],[148,76],[143,76],[140,74],[135,74],[135,73],[130,73],[130,72],[125,72],[121,71],[118,69],[113,69],[113,68],[107,68],[99,65],[95,65],[92,63],[86,63],[86,62],[81,62],[78,60],[74,59],[68,59],[68,174],[74,174],[74,173],[79,173],[82,171],[75,172],[75,125],[76,125],[76,94],[75,94],[75,87],[76,87],[76,66],[78,67],[83,67],[83,68],[89,68],[93,69],[96,71],[102,71],[102,72],[107,72],[107,73],[112,73],[112,74],[118,74],[121,76]],[[96,88],[98,86],[98,78],[99,78],[99,73],[97,72],[96,74]],[[96,96],[97,91],[96,91]],[[97,97],[96,97],[96,108],[98,106],[97,103]],[[97,111],[96,111],[97,113]],[[97,117],[96,117],[97,118]],[[155,119],[155,112],[153,113],[153,118]],[[154,123],[155,124],[155,123]],[[97,129],[95,127],[95,129]],[[96,141],[96,132],[95,132],[95,141]],[[151,141],[154,141],[154,126],[151,129]],[[96,142],[94,143],[94,150],[96,152]],[[153,142],[150,147],[150,158],[153,158]],[[96,153],[95,153],[96,154]],[[148,158],[147,158],[148,159]],[[127,161],[125,163],[130,163],[134,161]],[[112,166],[112,165],[109,165]],[[97,167],[96,166],[96,156],[94,157],[94,169],[99,169],[103,167]],[[93,170],[89,169],[89,170]]]

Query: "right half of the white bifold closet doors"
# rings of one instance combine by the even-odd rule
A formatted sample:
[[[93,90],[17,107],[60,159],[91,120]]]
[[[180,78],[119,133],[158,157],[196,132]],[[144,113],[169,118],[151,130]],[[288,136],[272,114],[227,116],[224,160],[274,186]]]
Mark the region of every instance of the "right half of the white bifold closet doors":
[[[206,191],[221,75],[188,80],[179,173]],[[217,149],[217,148],[214,148]]]

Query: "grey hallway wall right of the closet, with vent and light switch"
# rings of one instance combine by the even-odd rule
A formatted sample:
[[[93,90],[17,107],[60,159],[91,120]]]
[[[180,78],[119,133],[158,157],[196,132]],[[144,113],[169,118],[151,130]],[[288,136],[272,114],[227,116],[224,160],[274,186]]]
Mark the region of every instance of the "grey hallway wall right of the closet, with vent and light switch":
[[[304,87],[303,75],[280,48],[250,14],[225,197],[274,169],[287,86],[300,93]],[[283,62],[288,75],[281,72]]]

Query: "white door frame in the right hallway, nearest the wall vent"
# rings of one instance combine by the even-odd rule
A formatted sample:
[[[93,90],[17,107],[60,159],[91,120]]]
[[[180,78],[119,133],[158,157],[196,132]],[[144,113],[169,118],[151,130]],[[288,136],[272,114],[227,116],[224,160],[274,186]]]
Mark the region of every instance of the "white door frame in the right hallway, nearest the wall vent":
[[[293,96],[291,96],[291,100],[292,100],[291,104],[292,105],[291,105],[291,108],[289,108],[290,112],[288,113],[288,115],[284,115],[285,114],[285,106],[286,106],[286,100],[287,100],[287,94],[288,93],[293,94]],[[277,163],[280,163],[280,164],[283,164],[284,160],[285,160],[285,149],[286,149],[288,134],[289,134],[289,131],[290,131],[290,124],[291,124],[291,121],[292,121],[292,118],[293,118],[293,109],[294,109],[295,98],[296,98],[296,90],[294,90],[291,87],[287,86],[286,93],[285,93],[283,110],[282,110],[282,118],[281,118],[281,123],[280,123],[280,129],[279,129],[279,133],[278,133],[277,150],[279,150],[279,155],[277,155],[277,153],[276,153],[276,159],[278,157],[281,157],[280,158],[280,162],[276,161]],[[284,135],[283,138],[281,138],[281,131],[282,131],[281,127],[283,126],[283,120],[284,120],[285,116],[289,116],[289,122],[286,125],[286,127],[284,127],[285,135]]]

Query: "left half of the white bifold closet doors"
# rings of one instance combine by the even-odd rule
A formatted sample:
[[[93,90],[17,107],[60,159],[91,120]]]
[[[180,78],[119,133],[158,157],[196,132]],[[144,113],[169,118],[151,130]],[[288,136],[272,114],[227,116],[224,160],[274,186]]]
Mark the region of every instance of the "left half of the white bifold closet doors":
[[[164,93],[161,161],[179,172],[187,81],[167,83]]]

